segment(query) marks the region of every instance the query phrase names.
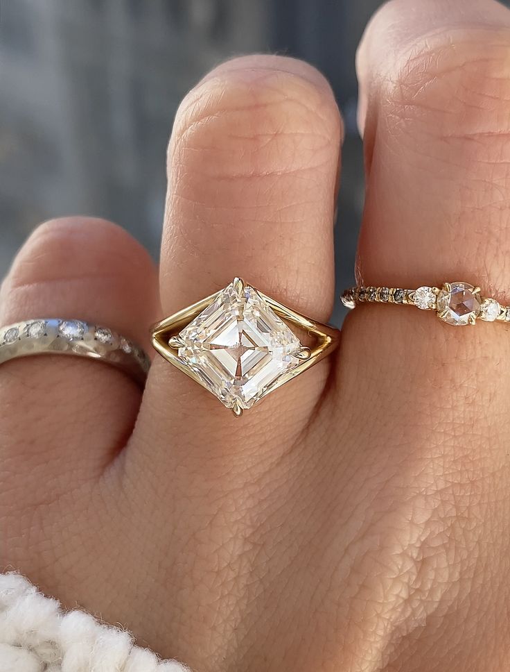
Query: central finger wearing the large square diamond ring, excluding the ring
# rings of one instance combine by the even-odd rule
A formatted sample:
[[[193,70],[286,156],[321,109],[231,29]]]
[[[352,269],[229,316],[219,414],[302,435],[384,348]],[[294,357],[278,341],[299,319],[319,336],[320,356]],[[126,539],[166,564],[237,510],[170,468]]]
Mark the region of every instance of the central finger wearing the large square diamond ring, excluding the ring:
[[[330,87],[312,67],[252,56],[206,76],[179,108],[168,152],[164,314],[238,275],[310,317],[327,319],[339,148],[339,112]],[[250,422],[256,422],[266,432],[276,426],[279,436],[288,427],[299,432],[321,394],[325,372],[315,367],[306,380],[292,381],[261,404],[260,412],[253,409],[252,421],[245,414],[237,430],[248,436]],[[184,445],[203,446],[204,437],[208,443],[215,436],[218,443],[225,439],[234,421],[230,415],[157,358],[141,428],[165,428]]]

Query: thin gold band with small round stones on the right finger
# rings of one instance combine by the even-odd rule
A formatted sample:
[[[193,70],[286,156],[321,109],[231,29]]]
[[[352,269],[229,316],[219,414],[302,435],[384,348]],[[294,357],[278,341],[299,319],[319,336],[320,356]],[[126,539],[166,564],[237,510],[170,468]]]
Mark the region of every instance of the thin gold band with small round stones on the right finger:
[[[434,310],[437,317],[452,326],[486,322],[510,322],[510,306],[482,296],[480,287],[469,283],[444,283],[442,287],[351,287],[342,294],[346,308],[359,303],[396,303]]]

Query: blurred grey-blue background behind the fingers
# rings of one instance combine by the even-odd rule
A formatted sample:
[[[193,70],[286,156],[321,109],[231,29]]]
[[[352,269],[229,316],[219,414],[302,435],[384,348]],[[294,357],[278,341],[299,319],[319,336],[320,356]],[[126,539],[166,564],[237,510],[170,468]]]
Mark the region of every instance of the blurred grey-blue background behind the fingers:
[[[337,285],[350,284],[363,201],[354,56],[379,4],[0,0],[0,276],[34,226],[62,215],[112,219],[157,258],[180,99],[218,62],[272,51],[321,69],[342,109]]]

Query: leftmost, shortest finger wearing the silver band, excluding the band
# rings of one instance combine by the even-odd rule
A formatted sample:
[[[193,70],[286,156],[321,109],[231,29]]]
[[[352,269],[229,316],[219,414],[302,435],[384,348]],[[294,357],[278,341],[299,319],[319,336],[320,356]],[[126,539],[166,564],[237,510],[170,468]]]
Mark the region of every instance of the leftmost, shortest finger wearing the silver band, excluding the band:
[[[35,230],[1,289],[0,324],[30,317],[82,319],[148,347],[157,313],[148,254],[121,228],[71,217]],[[141,390],[125,373],[84,358],[41,355],[0,367],[0,459],[30,473],[32,496],[49,481],[90,478],[130,434]],[[26,479],[24,479],[26,489]]]

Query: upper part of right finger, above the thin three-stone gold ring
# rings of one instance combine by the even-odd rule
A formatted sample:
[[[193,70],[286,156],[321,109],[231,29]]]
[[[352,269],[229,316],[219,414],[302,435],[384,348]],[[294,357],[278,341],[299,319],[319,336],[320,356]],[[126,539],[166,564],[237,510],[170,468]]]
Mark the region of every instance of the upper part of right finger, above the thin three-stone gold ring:
[[[364,281],[474,278],[504,298],[509,24],[490,0],[395,0],[369,25],[358,53]]]

